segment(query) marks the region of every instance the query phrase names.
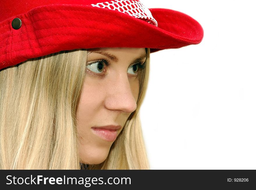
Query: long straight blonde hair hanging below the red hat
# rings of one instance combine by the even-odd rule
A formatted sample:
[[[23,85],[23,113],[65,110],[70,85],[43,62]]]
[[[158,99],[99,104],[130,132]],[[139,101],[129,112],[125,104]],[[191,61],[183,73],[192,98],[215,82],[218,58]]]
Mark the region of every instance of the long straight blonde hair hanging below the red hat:
[[[107,159],[88,169],[149,169],[138,113],[148,81],[146,52],[137,109]],[[76,113],[86,60],[87,50],[62,51],[0,71],[0,169],[81,168]]]

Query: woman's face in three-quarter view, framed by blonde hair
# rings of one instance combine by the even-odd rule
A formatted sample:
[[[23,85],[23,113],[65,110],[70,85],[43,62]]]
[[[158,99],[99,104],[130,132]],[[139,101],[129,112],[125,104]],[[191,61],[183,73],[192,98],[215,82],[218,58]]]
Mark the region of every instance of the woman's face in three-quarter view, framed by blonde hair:
[[[102,163],[129,115],[136,110],[145,48],[88,50],[87,71],[77,113],[79,155]]]

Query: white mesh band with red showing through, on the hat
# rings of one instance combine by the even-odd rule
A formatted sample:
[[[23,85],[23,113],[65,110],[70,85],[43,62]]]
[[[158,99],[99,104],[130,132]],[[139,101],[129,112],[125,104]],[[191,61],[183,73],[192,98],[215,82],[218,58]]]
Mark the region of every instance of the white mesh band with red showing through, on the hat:
[[[138,19],[143,19],[148,23],[157,26],[157,21],[153,18],[149,9],[147,9],[139,1],[110,1],[104,3],[91,4],[93,7],[109,8],[111,10],[118,10]]]

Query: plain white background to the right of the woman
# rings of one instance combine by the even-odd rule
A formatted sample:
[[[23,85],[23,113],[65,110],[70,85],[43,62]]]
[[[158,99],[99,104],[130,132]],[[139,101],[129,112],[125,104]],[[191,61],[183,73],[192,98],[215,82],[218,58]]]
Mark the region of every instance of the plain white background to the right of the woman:
[[[196,19],[199,45],[152,53],[141,123],[150,169],[256,169],[254,1],[142,0]]]

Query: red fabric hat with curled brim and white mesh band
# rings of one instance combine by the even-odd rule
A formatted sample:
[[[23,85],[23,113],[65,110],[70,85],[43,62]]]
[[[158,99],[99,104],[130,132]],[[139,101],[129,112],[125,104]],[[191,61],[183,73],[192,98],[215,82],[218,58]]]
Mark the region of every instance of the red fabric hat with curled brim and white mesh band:
[[[188,15],[140,1],[1,0],[0,69],[62,50],[181,48],[202,41]]]

